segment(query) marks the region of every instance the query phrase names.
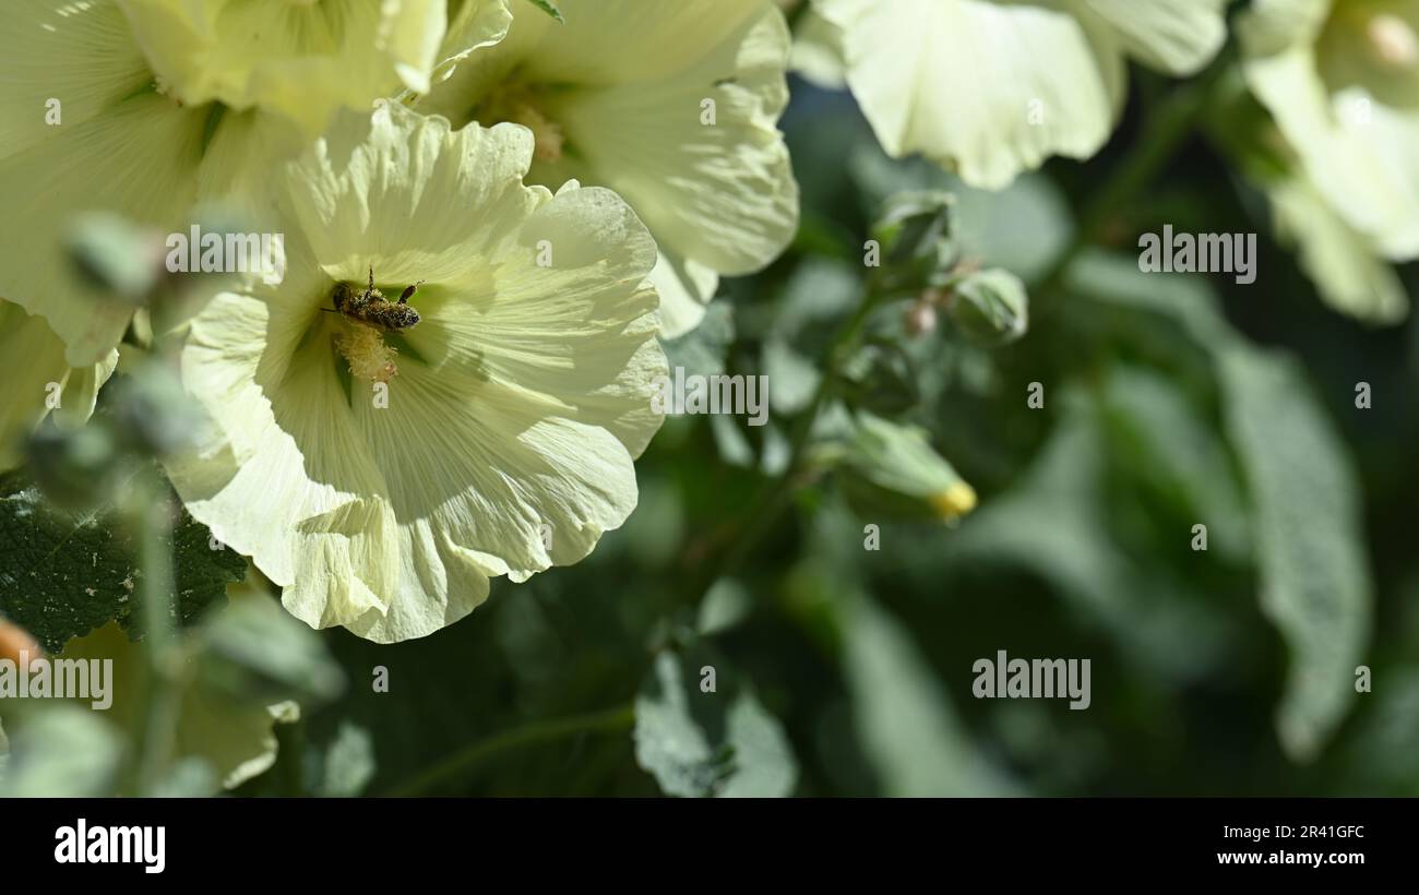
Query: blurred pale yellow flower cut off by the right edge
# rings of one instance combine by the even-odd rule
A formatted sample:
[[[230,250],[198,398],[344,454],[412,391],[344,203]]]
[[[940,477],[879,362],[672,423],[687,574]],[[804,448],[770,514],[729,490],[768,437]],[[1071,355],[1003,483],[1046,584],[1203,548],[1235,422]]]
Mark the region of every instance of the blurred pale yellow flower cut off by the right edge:
[[[1403,318],[1385,261],[1419,257],[1419,1],[1259,0],[1247,85],[1298,159],[1273,184],[1283,234],[1335,306]]]

